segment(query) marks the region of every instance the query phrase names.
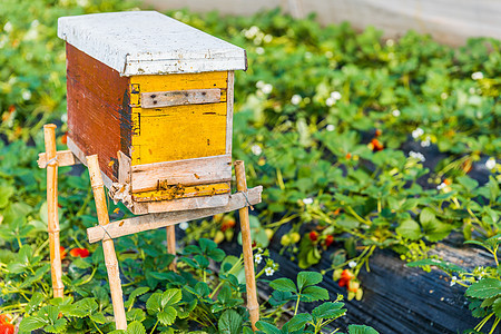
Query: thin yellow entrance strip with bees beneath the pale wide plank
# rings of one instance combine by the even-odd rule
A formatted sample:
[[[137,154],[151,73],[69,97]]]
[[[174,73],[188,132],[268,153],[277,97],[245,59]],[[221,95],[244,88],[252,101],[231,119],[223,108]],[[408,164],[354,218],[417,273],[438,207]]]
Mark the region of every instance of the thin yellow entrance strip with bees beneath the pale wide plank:
[[[228,194],[232,190],[229,183],[198,185],[198,186],[165,186],[160,185],[160,189],[132,194],[135,202],[157,202],[157,200],[177,200],[180,198],[190,198],[199,196],[214,196]]]

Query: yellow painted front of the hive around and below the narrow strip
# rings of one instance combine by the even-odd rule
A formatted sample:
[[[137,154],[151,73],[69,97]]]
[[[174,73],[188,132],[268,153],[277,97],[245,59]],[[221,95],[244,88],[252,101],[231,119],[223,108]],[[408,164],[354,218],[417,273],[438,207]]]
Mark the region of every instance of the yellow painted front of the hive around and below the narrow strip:
[[[220,89],[222,102],[155,109],[132,108],[132,165],[200,158],[226,153],[227,72],[135,76],[131,96],[154,91]]]

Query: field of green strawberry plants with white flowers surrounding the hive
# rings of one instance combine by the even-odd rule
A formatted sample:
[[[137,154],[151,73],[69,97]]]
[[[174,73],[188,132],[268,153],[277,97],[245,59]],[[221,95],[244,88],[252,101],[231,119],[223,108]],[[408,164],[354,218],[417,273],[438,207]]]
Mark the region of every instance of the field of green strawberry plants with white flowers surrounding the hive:
[[[45,170],[35,161],[45,150],[40,128],[48,121],[60,125],[58,149],[66,149],[65,51],[57,18],[136,6],[78,3],[7,0],[0,11],[0,313],[13,315],[0,317],[6,331],[21,317],[27,328],[43,331],[115,330],[109,291],[101,284],[102,250],[85,242],[85,229],[97,224],[86,171],[60,168],[59,176],[63,281],[72,297],[51,299],[48,284]],[[451,232],[478,243],[500,233],[499,40],[475,38],[456,49],[412,31],[384,40],[374,28],[321,27],[278,10],[224,19],[169,14],[247,50],[249,69],[235,80],[234,156],[247,161],[249,186],[265,188],[250,220],[262,247],[255,254],[259,278],[278,269],[268,257],[269,243],[281,243],[282,253],[302,268],[333,249],[321,274],[332,274],[348,299],[361,299],[357,276],[370,271],[377,248],[426,263],[428,250]],[[127,209],[109,205],[109,213],[121,217]],[[199,240],[180,254],[179,273],[167,269],[171,256],[160,232],[117,243],[128,331],[168,332],[188,324],[247,331],[242,259],[216,246],[238,239],[234,216],[179,227],[186,240]],[[489,278],[497,279],[494,272]],[[462,279],[456,282],[468,281]],[[296,291],[288,302],[308,303],[292,283]],[[181,298],[170,305],[175,291]],[[499,318],[493,296],[470,297],[477,298],[471,305],[480,303],[475,315]],[[323,307],[343,310],[340,301],[333,304]],[[176,310],[175,320],[165,316],[167,307]],[[322,317],[321,311],[296,314],[285,327],[262,326],[284,333],[304,324],[314,332],[335,317]],[[284,313],[271,307],[264,314]]]

